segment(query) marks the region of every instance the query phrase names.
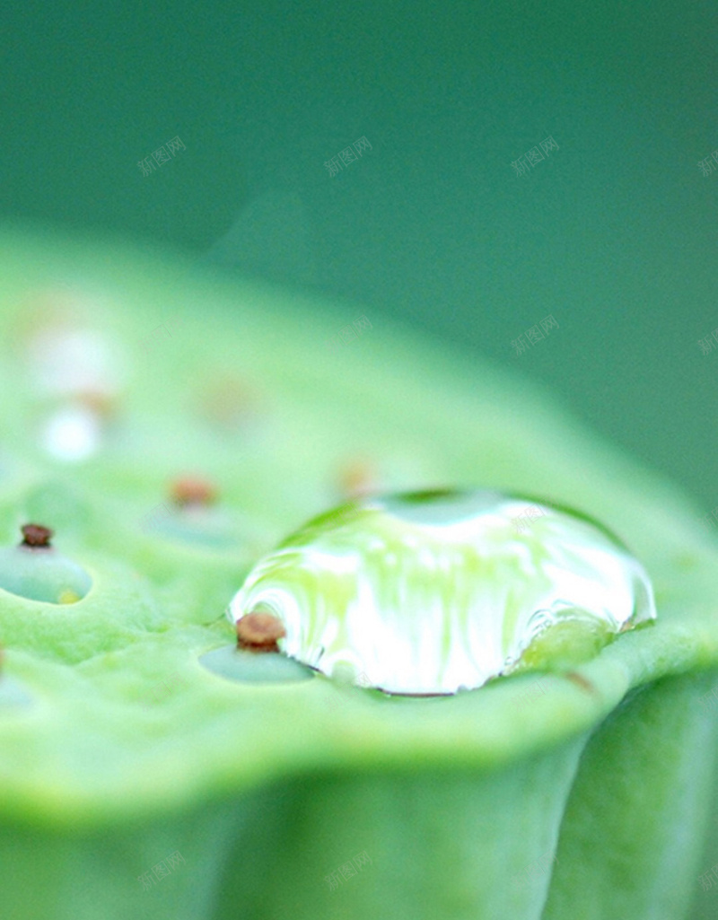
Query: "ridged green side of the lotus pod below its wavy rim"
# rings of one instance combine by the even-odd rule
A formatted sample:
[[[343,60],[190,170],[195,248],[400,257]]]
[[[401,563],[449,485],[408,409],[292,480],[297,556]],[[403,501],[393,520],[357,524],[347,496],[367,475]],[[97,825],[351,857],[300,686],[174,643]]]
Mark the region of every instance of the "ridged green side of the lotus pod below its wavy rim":
[[[642,687],[593,733],[485,771],[419,758],[401,770],[295,777],[97,834],[5,826],[4,912],[53,920],[679,917],[703,868],[716,722],[699,696],[715,676]],[[183,862],[145,890],[138,877],[176,851]]]

